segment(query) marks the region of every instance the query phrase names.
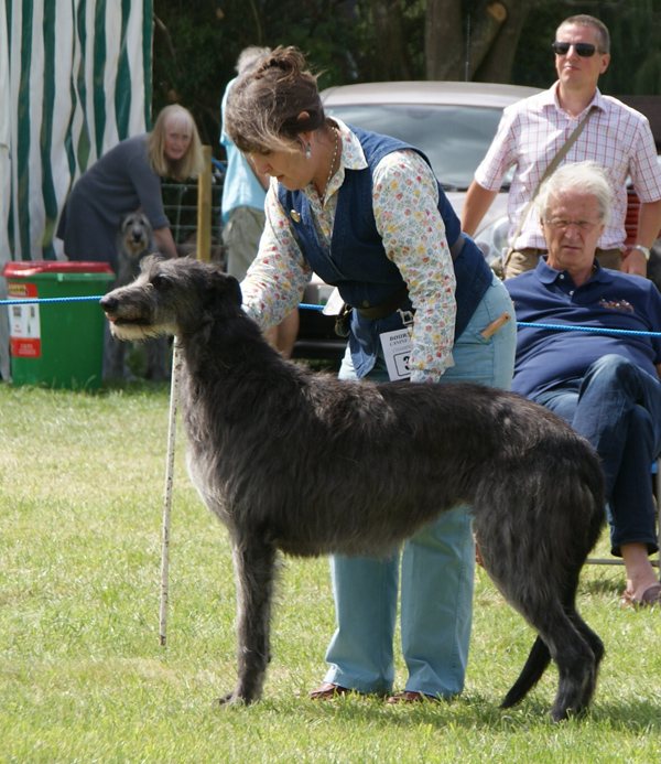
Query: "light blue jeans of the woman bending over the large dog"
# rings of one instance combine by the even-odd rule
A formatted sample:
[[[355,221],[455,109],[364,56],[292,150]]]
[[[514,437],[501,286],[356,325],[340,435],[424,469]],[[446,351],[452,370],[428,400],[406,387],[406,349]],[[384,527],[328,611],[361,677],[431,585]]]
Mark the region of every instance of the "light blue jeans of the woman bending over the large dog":
[[[480,334],[505,311],[514,318],[507,290],[495,279],[454,345],[455,365],[443,375],[443,384],[509,387],[514,321],[489,340]],[[355,378],[348,353],[339,376]],[[367,378],[388,379],[382,358]],[[325,681],[359,692],[391,691],[400,557],[402,652],[409,672],[404,689],[444,698],[458,695],[473,614],[475,547],[467,507],[443,515],[388,559],[330,558],[337,630],[326,652]]]

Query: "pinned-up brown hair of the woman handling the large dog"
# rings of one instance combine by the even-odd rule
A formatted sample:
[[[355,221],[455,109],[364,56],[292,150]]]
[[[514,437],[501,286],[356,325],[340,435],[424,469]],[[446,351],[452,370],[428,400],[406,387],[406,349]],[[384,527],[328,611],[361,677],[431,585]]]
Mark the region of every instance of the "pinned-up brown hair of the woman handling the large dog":
[[[305,66],[297,49],[277,47],[254,72],[237,79],[227,98],[225,129],[240,151],[293,151],[300,132],[326,123],[317,77]],[[303,111],[307,118],[299,119]]]

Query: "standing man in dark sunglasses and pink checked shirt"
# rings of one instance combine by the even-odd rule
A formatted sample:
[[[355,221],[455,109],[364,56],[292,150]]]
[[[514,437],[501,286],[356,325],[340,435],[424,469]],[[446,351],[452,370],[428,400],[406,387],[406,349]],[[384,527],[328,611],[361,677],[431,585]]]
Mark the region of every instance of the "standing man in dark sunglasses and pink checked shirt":
[[[593,107],[563,161],[595,160],[606,170],[611,216],[599,240],[599,262],[638,276],[647,273],[649,248],[661,228],[661,168],[647,118],[603,96],[597,87],[610,61],[609,46],[608,30],[598,19],[574,15],[563,21],[552,45],[557,82],[505,109],[475,173],[462,215],[462,229],[469,235],[498,194],[506,172],[514,166],[508,197],[508,238],[513,251],[508,256],[506,278],[534,268],[546,250],[539,222],[527,214],[529,203],[544,171]],[[641,204],[636,243],[625,250],[629,176]]]

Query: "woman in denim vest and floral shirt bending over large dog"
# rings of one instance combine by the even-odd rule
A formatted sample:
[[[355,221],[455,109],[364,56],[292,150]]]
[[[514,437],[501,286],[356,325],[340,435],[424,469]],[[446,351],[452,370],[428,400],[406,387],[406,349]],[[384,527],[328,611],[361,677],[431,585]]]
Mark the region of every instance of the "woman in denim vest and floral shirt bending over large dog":
[[[422,152],[327,118],[316,78],[292,47],[239,78],[225,119],[256,171],[271,176],[264,233],[241,284],[249,315],[263,327],[282,321],[314,271],[353,306],[340,378],[387,380],[381,337],[408,327],[412,383],[509,387],[516,324],[502,316],[513,318],[511,301],[460,233]],[[311,697],[392,692],[400,556],[409,676],[389,702],[462,691],[474,578],[467,507],[388,559],[332,558],[337,631]]]

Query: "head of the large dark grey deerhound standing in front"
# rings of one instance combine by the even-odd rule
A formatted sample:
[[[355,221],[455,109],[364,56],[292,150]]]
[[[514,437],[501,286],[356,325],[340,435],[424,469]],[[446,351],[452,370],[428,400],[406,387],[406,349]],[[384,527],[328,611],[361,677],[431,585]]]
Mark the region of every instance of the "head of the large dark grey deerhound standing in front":
[[[241,289],[215,265],[192,258],[144,258],[140,276],[108,292],[100,305],[119,340],[181,336],[213,321],[242,316]]]

